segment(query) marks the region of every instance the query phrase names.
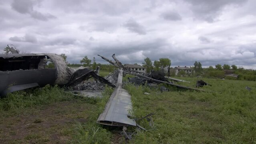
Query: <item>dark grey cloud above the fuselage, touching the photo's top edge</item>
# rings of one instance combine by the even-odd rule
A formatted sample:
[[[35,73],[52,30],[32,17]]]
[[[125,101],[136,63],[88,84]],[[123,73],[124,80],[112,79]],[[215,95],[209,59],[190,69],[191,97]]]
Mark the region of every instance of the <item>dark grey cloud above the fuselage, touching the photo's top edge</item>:
[[[12,8],[21,14],[30,14],[32,18],[47,21],[51,18],[56,18],[52,14],[42,14],[34,10],[34,5],[39,1],[32,1],[32,0],[14,0],[12,3]]]

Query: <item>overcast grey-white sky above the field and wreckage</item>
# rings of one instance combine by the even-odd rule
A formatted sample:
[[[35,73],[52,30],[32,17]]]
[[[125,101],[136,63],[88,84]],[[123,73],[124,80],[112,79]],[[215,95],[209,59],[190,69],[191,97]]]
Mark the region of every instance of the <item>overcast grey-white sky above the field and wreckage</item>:
[[[256,0],[0,0],[0,48],[256,69]]]

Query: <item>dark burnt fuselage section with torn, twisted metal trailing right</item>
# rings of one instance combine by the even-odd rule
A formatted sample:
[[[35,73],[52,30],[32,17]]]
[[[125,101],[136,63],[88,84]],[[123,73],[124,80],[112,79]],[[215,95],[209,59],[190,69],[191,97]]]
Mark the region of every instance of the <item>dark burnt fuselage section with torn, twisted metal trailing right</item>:
[[[46,67],[48,60],[54,68]],[[73,86],[91,77],[115,87],[93,70],[68,67],[57,54],[0,54],[0,96],[46,84]]]

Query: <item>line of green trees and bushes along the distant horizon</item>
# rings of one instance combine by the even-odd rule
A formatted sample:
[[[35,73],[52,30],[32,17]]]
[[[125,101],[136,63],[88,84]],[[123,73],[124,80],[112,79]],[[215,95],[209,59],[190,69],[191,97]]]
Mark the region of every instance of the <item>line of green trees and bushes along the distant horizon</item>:
[[[8,47],[5,48],[5,52],[8,51]],[[65,62],[67,62],[67,56],[65,54],[60,54],[60,56],[63,57]],[[68,62],[67,62],[68,63]],[[171,60],[169,58],[159,58],[159,60],[155,60],[152,62],[150,58],[145,58],[144,62],[142,62],[143,67],[147,69],[147,72],[150,72],[151,70],[160,70],[161,68],[170,68],[171,66]],[[85,56],[81,61],[80,64],[68,64],[68,66],[71,67],[90,67],[91,69],[95,70],[97,66],[100,66],[101,70],[107,70],[107,71],[113,71],[115,70],[115,66],[111,64],[100,64],[97,63],[95,60],[95,57],[93,57],[93,60],[90,60],[87,56]],[[54,67],[54,64],[52,62],[48,63],[48,67]],[[195,73],[191,75],[187,75],[185,71],[180,70],[178,73],[178,76],[203,76],[207,78],[226,78],[226,79],[237,79],[237,80],[252,80],[256,81],[256,70],[247,70],[244,68],[238,68],[236,65],[228,65],[228,64],[216,64],[215,68],[213,66],[209,66],[208,68],[202,68],[201,62],[195,62],[194,66],[191,67],[195,70]],[[231,70],[232,74],[237,74],[238,77],[225,77],[225,72],[227,70]],[[171,76],[175,76],[174,72],[171,72]]]

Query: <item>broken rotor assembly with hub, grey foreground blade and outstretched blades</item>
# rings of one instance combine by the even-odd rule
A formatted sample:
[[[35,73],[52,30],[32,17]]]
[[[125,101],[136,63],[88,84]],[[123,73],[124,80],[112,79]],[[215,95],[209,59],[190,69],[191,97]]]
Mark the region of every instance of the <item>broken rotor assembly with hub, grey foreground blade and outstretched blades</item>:
[[[151,74],[149,74],[149,76],[143,76],[135,70],[125,68],[125,66],[123,66],[123,64],[119,60],[117,60],[117,58],[115,58],[115,54],[112,55],[112,58],[115,60],[115,62],[103,56],[101,56],[101,58],[103,58],[104,60],[106,60],[107,62],[109,62],[110,64],[118,68],[118,70],[115,72],[115,75],[118,75],[118,76],[115,76],[117,77],[116,88],[114,92],[111,94],[103,113],[100,114],[97,120],[97,123],[107,125],[107,126],[123,126],[123,131],[121,132],[121,134],[123,134],[126,139],[130,139],[132,135],[132,134],[128,135],[125,132],[125,130],[127,130],[126,126],[137,127],[142,130],[145,130],[145,128],[139,126],[139,124],[137,123],[137,121],[141,120],[142,118],[131,119],[129,116],[129,111],[132,110],[131,95],[122,88],[123,75],[131,74],[131,75],[137,76],[136,80],[141,78],[140,80],[143,82],[148,81],[148,82],[155,82],[155,83],[165,83],[172,86],[176,86],[178,88],[203,91],[197,88],[190,88],[186,86],[180,86],[178,84],[173,84],[169,82],[167,78],[164,77],[164,74],[157,74],[155,72],[152,72]],[[131,78],[130,80],[134,80],[134,79]],[[153,126],[153,120],[151,118],[152,115],[153,113],[143,117],[143,118],[147,118],[150,126]]]

